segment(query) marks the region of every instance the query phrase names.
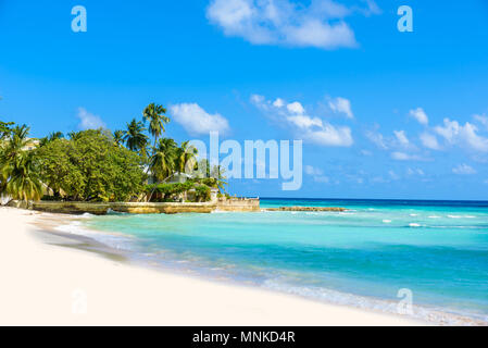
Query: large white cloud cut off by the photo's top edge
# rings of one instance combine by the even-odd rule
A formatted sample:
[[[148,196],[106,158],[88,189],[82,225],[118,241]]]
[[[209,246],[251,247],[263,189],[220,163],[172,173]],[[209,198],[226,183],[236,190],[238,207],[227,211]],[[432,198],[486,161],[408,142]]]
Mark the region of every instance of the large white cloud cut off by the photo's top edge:
[[[290,0],[212,0],[207,17],[226,36],[242,37],[254,45],[335,49],[358,46],[343,18],[362,11],[374,14],[378,9],[372,0],[367,9],[348,9],[334,0],[316,0],[309,5]]]

